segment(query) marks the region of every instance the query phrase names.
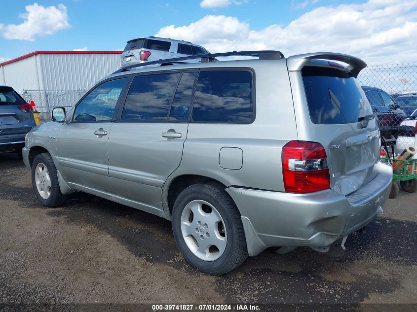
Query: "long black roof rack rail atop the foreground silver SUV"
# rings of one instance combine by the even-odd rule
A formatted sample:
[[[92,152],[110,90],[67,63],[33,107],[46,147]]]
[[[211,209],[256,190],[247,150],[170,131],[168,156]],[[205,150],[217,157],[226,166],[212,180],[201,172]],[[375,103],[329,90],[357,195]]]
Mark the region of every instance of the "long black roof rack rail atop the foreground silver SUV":
[[[254,56],[258,57],[260,60],[281,60],[284,58],[284,55],[280,51],[273,51],[273,50],[263,50],[263,51],[233,51],[233,52],[226,52],[226,53],[214,53],[214,54],[202,54],[202,55],[190,55],[190,56],[183,56],[174,59],[166,59],[166,60],[158,60],[146,63],[139,63],[139,64],[132,64],[114,71],[114,73],[119,73],[123,71],[127,71],[130,69],[148,66],[148,65],[155,65],[155,64],[164,64],[169,65],[169,63],[181,63],[180,61],[184,60],[194,60],[194,59],[201,59],[201,63],[207,62],[215,62],[216,57],[222,56]]]

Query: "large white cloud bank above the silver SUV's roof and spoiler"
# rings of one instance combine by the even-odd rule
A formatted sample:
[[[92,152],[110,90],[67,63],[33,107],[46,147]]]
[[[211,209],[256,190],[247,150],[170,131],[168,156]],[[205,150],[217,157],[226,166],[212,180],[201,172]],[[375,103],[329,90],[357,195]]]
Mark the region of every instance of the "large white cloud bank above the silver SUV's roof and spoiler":
[[[417,0],[369,0],[321,6],[287,26],[250,30],[236,17],[206,15],[187,26],[166,26],[157,36],[188,40],[210,52],[280,50],[285,56],[330,51],[352,54],[369,64],[417,59]]]

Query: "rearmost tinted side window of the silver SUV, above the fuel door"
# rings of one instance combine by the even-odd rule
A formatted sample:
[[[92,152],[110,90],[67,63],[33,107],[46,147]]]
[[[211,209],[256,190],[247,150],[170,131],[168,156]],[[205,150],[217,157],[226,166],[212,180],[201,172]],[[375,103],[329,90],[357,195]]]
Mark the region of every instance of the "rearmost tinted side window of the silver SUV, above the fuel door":
[[[254,117],[252,73],[247,70],[201,70],[192,120],[250,123]]]

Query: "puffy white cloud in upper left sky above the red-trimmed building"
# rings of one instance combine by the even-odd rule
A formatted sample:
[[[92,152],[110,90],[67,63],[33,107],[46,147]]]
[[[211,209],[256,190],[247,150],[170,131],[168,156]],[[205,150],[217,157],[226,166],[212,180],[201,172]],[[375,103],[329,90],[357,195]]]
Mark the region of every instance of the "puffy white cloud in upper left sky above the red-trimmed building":
[[[38,3],[27,5],[26,13],[19,17],[24,19],[19,25],[0,24],[0,34],[5,39],[35,41],[37,35],[52,35],[70,27],[67,7],[64,4],[48,7]]]

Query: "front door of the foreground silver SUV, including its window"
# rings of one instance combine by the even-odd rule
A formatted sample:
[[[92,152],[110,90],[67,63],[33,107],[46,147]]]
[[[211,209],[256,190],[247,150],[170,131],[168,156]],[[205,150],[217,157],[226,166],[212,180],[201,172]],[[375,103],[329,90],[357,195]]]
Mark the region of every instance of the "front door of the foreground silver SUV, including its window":
[[[114,193],[109,179],[109,134],[120,94],[128,78],[106,81],[94,88],[63,124],[57,138],[60,172],[76,189]]]

